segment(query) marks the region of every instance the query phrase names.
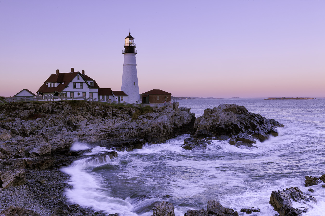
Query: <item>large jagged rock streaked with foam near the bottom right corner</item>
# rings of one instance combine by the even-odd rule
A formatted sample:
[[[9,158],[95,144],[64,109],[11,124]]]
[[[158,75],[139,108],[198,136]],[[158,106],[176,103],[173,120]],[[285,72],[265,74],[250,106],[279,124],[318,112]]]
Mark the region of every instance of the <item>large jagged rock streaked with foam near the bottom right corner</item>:
[[[314,201],[317,203],[314,197],[307,197],[303,195],[303,192],[299,188],[293,187],[283,189],[282,191],[272,191],[270,204],[275,211],[279,212],[279,216],[297,216],[308,211],[307,207],[293,208],[291,199],[296,202],[302,201],[306,203]]]

